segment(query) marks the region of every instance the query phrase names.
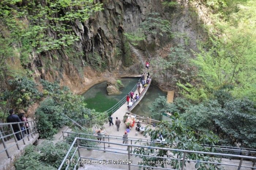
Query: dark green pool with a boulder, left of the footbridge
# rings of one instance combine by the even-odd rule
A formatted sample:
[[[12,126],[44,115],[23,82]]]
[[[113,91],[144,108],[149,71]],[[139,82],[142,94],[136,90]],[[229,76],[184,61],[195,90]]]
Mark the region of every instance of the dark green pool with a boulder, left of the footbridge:
[[[125,97],[136,85],[138,80],[139,78],[122,78],[121,81],[124,84],[124,88],[120,89],[120,94],[108,95],[106,91],[107,83],[102,82],[94,85],[82,95],[88,108],[95,109],[97,112],[104,112]]]

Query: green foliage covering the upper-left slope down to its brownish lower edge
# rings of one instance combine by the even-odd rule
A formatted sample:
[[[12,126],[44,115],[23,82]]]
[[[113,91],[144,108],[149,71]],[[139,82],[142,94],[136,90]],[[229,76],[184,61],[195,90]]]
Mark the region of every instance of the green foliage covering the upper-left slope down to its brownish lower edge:
[[[72,26],[101,10],[93,0],[0,1],[0,78],[33,73],[29,63],[35,53],[65,49],[68,54],[79,39]]]

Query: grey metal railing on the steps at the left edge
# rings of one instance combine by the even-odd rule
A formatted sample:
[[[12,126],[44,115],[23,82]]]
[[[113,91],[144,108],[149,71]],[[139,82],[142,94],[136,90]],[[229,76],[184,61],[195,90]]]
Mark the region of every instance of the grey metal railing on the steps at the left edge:
[[[26,124],[28,123],[28,127]],[[12,125],[18,125],[18,131],[14,131]],[[0,153],[6,153],[7,157],[10,158],[10,148],[16,145],[17,149],[20,150],[19,143],[25,143],[25,138],[27,137],[28,140],[32,139],[35,133],[37,133],[37,124],[36,121],[23,121],[23,122],[14,122],[14,123],[0,123],[0,141],[1,147]],[[22,127],[26,127],[23,129]],[[25,135],[26,133],[26,135]],[[21,140],[18,140],[16,135],[20,135]],[[8,142],[8,140],[15,140],[15,143]],[[2,149],[3,148],[3,149]]]

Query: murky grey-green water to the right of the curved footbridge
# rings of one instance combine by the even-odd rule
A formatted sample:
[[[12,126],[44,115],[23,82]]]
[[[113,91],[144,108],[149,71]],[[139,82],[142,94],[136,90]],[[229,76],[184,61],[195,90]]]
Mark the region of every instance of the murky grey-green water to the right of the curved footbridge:
[[[138,105],[132,110],[132,113],[137,114],[139,116],[150,117],[152,112],[150,112],[149,107],[159,96],[166,97],[167,92],[162,91],[157,86],[153,84],[150,85],[143,99],[138,103]],[[155,120],[160,120],[159,117],[151,117]]]

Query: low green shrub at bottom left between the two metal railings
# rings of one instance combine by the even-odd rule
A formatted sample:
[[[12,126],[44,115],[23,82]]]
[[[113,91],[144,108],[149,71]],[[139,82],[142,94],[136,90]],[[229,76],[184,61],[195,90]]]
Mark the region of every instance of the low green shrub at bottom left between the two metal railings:
[[[28,145],[25,148],[25,153],[15,162],[16,170],[56,170],[65,155],[67,154],[70,145],[63,141],[53,144],[52,141],[44,141],[41,145]],[[71,158],[75,149],[72,149],[68,158]],[[74,159],[78,159],[77,155]],[[74,164],[70,165],[74,168]],[[65,169],[64,164],[63,169]]]

